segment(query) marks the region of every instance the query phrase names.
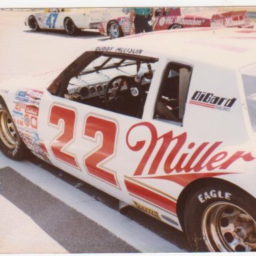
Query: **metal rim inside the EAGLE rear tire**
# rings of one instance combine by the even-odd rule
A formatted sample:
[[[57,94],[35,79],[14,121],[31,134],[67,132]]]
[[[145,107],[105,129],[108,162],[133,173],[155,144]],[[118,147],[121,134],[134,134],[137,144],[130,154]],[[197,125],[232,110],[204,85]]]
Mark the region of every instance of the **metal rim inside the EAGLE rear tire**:
[[[209,205],[201,230],[209,251],[256,251],[255,219],[233,203]]]

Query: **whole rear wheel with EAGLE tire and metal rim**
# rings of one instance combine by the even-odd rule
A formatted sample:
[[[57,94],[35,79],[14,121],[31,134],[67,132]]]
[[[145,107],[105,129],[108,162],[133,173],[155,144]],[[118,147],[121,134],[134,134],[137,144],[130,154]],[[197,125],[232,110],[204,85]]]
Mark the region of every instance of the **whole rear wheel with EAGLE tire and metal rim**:
[[[211,181],[187,199],[184,221],[193,251],[256,251],[256,200],[223,181]]]

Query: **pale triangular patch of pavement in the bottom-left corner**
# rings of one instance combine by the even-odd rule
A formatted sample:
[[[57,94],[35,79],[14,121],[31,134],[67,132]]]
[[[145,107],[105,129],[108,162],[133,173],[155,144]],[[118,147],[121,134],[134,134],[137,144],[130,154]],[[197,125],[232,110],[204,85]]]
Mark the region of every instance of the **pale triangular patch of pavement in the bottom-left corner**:
[[[28,215],[0,195],[0,253],[68,253]]]

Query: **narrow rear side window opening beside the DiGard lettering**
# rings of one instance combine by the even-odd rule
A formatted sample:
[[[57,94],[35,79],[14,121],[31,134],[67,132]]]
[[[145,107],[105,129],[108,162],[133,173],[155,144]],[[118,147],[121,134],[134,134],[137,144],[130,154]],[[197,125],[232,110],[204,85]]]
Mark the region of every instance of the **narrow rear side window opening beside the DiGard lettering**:
[[[155,119],[182,123],[191,71],[188,65],[180,63],[167,65],[155,104]]]

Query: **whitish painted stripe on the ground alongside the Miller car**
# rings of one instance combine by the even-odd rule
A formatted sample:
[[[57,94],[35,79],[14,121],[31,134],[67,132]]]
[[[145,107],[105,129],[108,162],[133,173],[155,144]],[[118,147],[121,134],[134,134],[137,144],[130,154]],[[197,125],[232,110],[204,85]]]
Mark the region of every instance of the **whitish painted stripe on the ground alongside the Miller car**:
[[[0,153],[0,167],[11,167],[35,185],[76,209],[142,253],[184,252],[135,221],[61,181],[29,161],[13,161]]]

